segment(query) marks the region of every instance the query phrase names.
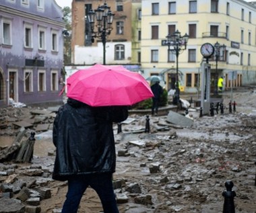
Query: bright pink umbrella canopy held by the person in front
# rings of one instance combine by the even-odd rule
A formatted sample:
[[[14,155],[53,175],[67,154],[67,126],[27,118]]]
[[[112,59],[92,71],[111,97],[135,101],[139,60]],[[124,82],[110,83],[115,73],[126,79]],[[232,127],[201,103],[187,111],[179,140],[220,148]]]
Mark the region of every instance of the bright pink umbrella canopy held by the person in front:
[[[139,73],[122,66],[94,65],[67,79],[67,97],[91,106],[133,105],[153,96]]]

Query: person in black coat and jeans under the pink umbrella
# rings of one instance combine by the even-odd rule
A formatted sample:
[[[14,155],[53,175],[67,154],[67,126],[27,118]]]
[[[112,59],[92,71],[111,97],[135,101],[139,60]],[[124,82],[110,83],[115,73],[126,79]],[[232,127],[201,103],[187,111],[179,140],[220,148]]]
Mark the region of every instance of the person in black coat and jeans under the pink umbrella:
[[[113,190],[116,153],[113,122],[128,117],[125,106],[91,107],[68,99],[53,123],[56,146],[53,179],[68,181],[63,213],[76,213],[90,185],[100,197],[104,213],[118,213]]]

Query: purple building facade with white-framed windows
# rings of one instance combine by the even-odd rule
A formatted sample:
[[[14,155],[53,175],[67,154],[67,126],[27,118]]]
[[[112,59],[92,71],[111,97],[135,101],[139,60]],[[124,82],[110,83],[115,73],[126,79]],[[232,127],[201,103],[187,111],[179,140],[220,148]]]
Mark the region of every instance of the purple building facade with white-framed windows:
[[[55,0],[1,0],[0,13],[0,106],[61,101],[61,7]]]

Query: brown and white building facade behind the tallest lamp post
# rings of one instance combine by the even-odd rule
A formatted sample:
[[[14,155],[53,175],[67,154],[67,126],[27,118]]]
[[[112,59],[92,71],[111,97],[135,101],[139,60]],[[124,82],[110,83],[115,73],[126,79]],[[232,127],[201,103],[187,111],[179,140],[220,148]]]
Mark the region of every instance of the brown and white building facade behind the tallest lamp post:
[[[101,38],[94,38],[92,42],[88,13],[90,9],[97,9],[98,5],[107,3],[114,13],[112,31],[106,38],[106,64],[131,64],[137,62],[132,51],[138,51],[137,40],[138,17],[137,7],[141,1],[131,0],[73,0],[72,1],[72,59],[73,65],[93,65],[103,62],[103,44]],[[133,5],[134,3],[134,5]],[[135,5],[137,3],[137,5]],[[133,15],[132,15],[133,13]],[[132,20],[133,19],[133,20]],[[97,30],[97,28],[94,28]]]

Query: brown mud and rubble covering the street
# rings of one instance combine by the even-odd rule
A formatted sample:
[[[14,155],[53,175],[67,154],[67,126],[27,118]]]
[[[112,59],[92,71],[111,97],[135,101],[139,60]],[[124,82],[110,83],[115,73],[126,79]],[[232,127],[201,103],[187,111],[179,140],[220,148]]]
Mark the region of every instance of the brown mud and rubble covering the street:
[[[122,124],[121,133],[117,134],[114,125],[117,171],[113,182],[121,213],[222,212],[222,192],[228,180],[234,183],[236,212],[256,212],[256,91],[235,92],[236,112],[232,113],[228,112],[230,93],[223,97],[224,114],[199,118],[198,110],[189,111],[193,118],[189,128],[170,124],[167,116],[150,116],[150,133],[145,133],[146,116],[136,114],[130,114],[129,122]],[[0,150],[10,146],[18,134],[19,128],[12,123],[32,119],[32,110],[0,109],[1,122],[9,120],[7,128],[0,130]],[[51,115],[37,123],[49,124],[49,130],[36,132],[31,163],[0,163],[0,172],[13,169],[15,181],[26,182],[29,190],[41,187],[51,191],[51,198],[38,203],[44,213],[60,212],[67,191],[66,182],[51,179],[55,158]],[[24,139],[35,130],[36,124],[28,128]],[[31,175],[32,168],[42,173]],[[0,175],[0,185],[9,176]],[[31,206],[26,200],[22,204]],[[100,200],[90,188],[80,203],[79,213],[84,212],[102,212]]]

